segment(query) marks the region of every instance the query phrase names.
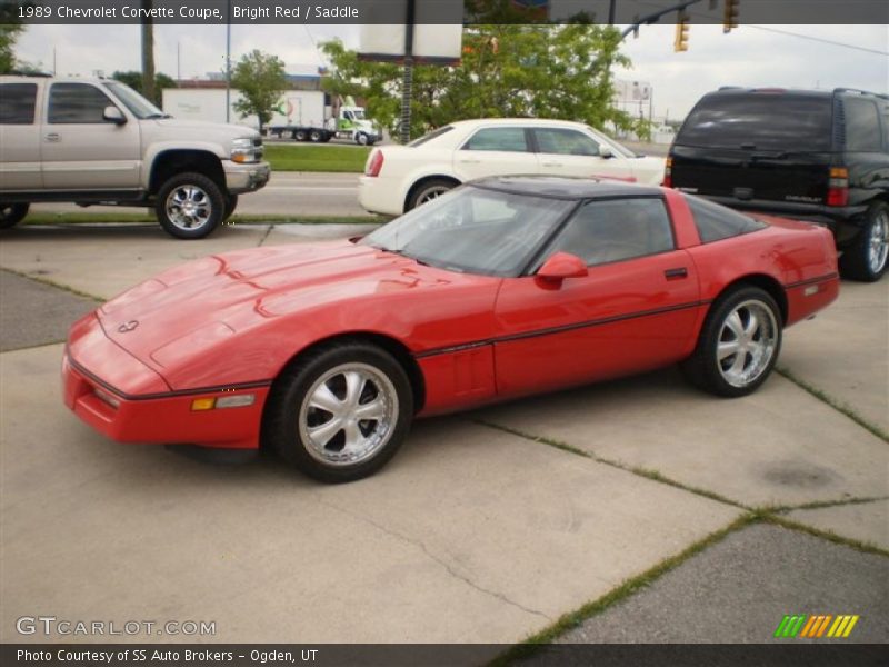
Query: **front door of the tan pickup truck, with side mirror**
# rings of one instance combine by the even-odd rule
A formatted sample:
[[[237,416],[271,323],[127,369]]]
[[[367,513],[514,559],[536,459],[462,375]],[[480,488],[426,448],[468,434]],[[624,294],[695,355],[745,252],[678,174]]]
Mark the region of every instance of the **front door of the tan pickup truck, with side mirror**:
[[[103,119],[117,107],[126,123]],[[50,190],[137,190],[139,120],[92,83],[52,83],[40,137],[43,187]]]

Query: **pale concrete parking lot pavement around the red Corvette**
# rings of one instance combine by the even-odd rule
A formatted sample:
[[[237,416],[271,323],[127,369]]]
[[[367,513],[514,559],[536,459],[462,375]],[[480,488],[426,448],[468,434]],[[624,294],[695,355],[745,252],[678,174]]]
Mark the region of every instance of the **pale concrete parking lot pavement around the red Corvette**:
[[[889,279],[843,282],[750,397],[667,369],[431,419],[347,486],[272,456],[117,445],[61,404],[60,341],[93,299],[202,255],[360,229],[0,237],[0,641],[60,640],[17,633],[42,614],[214,621],[202,641],[509,645],[643,579],[561,640],[769,641],[810,613],[859,614],[850,640],[889,641]]]

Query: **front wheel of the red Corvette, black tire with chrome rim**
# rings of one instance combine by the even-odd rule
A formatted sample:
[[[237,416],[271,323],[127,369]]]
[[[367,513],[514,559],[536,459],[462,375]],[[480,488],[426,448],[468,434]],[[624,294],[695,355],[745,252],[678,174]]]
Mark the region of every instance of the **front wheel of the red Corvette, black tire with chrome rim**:
[[[262,439],[309,477],[354,481],[396,455],[412,419],[401,365],[373,345],[346,341],[284,369],[269,394]]]

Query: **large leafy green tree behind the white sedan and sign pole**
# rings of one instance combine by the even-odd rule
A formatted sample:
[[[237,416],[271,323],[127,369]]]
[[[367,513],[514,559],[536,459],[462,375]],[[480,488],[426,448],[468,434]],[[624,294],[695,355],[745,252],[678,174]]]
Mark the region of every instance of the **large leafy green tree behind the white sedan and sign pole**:
[[[640,129],[612,106],[620,32],[607,26],[483,24],[463,30],[458,66],[416,66],[411,136],[466,118],[536,117],[596,127]],[[368,113],[393,131],[399,119],[400,66],[360,61],[338,41],[324,53],[336,71],[330,92],[367,100]]]

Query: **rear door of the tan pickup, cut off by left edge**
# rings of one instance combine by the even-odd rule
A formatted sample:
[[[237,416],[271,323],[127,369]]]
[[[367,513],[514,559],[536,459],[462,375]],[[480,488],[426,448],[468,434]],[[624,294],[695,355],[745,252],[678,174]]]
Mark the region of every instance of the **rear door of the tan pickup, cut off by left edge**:
[[[38,101],[37,83],[0,83],[0,191],[42,187]]]

